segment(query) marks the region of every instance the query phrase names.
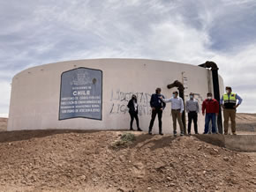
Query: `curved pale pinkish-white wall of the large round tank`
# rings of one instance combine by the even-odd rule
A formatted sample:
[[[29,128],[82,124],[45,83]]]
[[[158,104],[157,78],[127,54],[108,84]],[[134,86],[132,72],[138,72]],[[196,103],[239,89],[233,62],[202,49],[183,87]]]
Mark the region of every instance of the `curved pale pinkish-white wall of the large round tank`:
[[[99,107],[101,113],[96,118],[60,118],[62,75],[66,71],[83,68],[97,70],[97,74],[102,75],[102,85],[99,85],[102,86],[102,107]],[[184,63],[144,59],[93,59],[29,68],[12,79],[8,130],[129,129],[130,116],[126,106],[135,93],[138,95],[140,127],[147,131],[151,117],[151,94],[156,87],[161,87],[162,94],[170,98],[177,88],[168,89],[167,85],[175,80],[184,83],[185,100],[188,99],[189,92],[195,92],[200,106],[207,92],[212,92],[209,70]],[[221,77],[219,80],[222,92],[223,81]],[[200,132],[203,127],[204,117],[200,114]],[[162,115],[162,129],[163,133],[173,131],[169,103]],[[153,130],[158,132],[157,119]]]

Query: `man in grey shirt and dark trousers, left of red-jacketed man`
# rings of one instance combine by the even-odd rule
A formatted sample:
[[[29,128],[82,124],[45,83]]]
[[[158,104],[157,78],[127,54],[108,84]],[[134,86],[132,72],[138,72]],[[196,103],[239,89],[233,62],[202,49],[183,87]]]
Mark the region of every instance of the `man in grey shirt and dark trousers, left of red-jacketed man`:
[[[190,93],[190,99],[185,102],[185,110],[188,113],[188,135],[191,135],[191,124],[194,123],[195,134],[198,134],[198,113],[200,105],[198,100],[194,100],[194,93]]]

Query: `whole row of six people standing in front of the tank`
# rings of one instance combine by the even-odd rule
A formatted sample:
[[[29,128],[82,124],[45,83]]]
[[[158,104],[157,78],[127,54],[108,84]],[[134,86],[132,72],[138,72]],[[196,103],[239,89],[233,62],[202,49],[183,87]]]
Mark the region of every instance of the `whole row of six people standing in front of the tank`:
[[[194,125],[194,133],[198,132],[198,114],[200,113],[200,105],[198,100],[194,99],[194,93],[190,93],[189,100],[184,100],[178,96],[178,92],[173,92],[170,99],[165,99],[161,94],[161,88],[156,88],[155,93],[152,94],[150,100],[150,107],[152,108],[151,121],[149,123],[148,134],[152,135],[152,129],[154,126],[154,120],[157,115],[159,134],[162,134],[162,111],[166,107],[166,103],[171,103],[171,115],[173,122],[173,135],[177,137],[177,122],[180,128],[180,136],[184,136],[184,124],[182,122],[182,114],[185,112],[188,114],[188,134],[191,135],[192,122]],[[237,102],[238,100],[238,102]],[[226,87],[226,93],[222,95],[220,105],[223,108],[224,116],[224,134],[228,134],[229,119],[231,119],[231,130],[232,134],[236,135],[236,111],[237,107],[242,103],[242,99],[237,93],[232,92],[231,87]],[[132,100],[129,101],[128,106],[129,114],[131,115],[130,129],[133,130],[132,124],[134,119],[136,120],[137,129],[139,128],[139,117],[138,117],[138,103],[136,95],[132,95]],[[218,133],[216,128],[216,118],[219,114],[219,102],[213,98],[211,92],[207,93],[207,99],[202,104],[202,114],[205,115],[205,129],[203,134]],[[212,123],[212,129],[209,129],[209,123]]]

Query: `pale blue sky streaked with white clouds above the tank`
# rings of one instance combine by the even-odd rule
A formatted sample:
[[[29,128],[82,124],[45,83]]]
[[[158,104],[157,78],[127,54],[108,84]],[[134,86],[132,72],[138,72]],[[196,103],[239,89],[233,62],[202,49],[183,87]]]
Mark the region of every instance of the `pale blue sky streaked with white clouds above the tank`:
[[[0,116],[11,78],[87,58],[214,61],[256,113],[256,0],[0,0]]]

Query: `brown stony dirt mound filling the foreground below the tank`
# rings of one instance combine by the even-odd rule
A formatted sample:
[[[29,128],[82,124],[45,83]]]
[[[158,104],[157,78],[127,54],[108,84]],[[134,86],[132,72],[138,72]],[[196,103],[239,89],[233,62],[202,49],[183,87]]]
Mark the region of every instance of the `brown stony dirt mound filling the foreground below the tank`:
[[[37,130],[0,133],[7,191],[255,191],[255,158],[196,137]]]

